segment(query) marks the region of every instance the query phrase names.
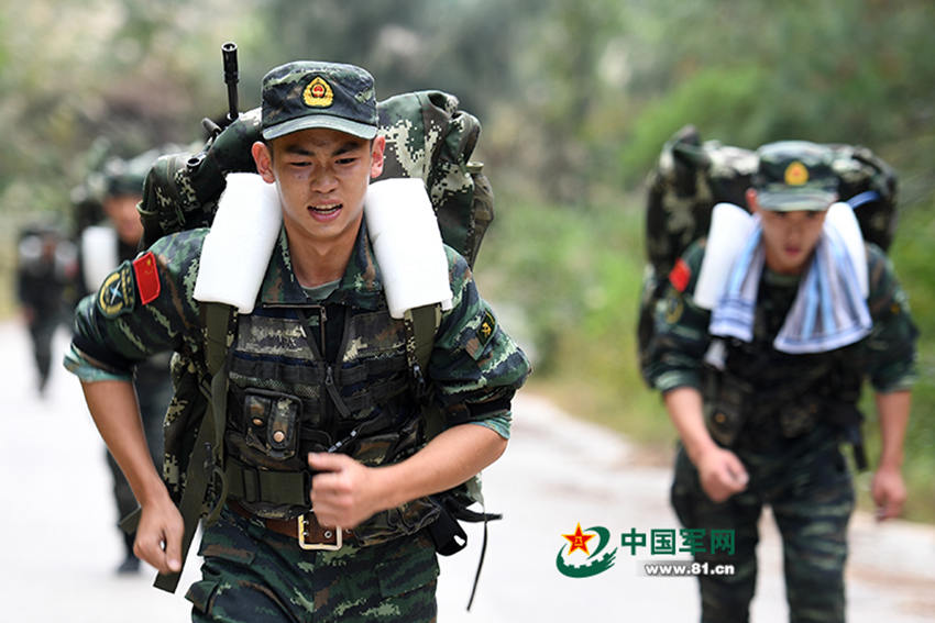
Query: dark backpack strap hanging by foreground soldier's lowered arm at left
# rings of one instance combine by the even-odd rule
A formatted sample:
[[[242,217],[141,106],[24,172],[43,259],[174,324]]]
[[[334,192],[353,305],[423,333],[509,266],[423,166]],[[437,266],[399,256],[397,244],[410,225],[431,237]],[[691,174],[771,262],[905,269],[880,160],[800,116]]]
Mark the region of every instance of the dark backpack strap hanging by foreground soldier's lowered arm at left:
[[[224,415],[228,401],[228,335],[235,322],[234,308],[223,303],[207,302],[201,304],[202,322],[205,324],[205,363],[208,366],[210,387],[202,383],[201,392],[208,399],[205,415],[198,426],[198,435],[188,458],[188,469],[185,471],[185,490],[178,504],[185,532],[182,537],[182,565],[188,557],[191,539],[198,527],[198,521],[205,514],[206,502],[213,498],[213,507],[208,511],[205,522],[211,524],[220,515],[221,508],[228,493],[227,479],[223,471],[224,447]],[[220,489],[218,490],[218,485]],[[175,592],[182,569],[174,574],[156,576],[154,587],[167,592]]]

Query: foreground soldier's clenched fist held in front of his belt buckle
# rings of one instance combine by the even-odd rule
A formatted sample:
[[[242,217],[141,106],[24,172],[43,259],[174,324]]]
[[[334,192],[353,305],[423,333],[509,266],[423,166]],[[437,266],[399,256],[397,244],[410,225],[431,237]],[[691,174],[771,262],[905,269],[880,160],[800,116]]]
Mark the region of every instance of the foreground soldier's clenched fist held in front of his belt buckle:
[[[382,510],[376,472],[343,454],[310,453],[311,509],[321,525],[355,527]]]

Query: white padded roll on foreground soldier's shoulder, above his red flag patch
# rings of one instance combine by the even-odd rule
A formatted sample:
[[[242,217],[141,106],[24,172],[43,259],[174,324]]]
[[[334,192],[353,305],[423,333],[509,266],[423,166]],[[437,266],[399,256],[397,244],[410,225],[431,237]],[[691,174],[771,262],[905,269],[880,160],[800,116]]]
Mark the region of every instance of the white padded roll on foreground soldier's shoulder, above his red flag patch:
[[[201,248],[195,299],[252,312],[282,222],[274,185],[256,174],[228,174]]]

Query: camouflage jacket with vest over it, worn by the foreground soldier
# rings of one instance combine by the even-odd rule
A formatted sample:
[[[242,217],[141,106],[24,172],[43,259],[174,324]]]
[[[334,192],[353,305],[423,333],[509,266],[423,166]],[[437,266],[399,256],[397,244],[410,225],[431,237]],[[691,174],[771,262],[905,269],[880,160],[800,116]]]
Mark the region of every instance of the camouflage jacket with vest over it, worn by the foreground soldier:
[[[166,349],[186,353],[200,366],[205,331],[193,291],[207,231],[179,232],[151,247],[160,289],[145,304],[128,263],[105,280],[98,294],[81,301],[69,369],[82,378],[101,378],[101,370],[125,375],[133,363]],[[480,298],[464,259],[450,248],[447,254],[454,297],[453,309],[442,314],[427,370],[435,400],[446,425],[474,422],[507,437],[510,399],[529,364]],[[424,443],[417,425],[420,407],[405,365],[403,322],[389,316],[365,223],[342,280],[320,303],[309,301],[298,283],[282,231],[256,308],[238,318],[237,333],[229,358],[228,463],[234,457],[248,466],[299,471],[307,469],[307,452],[328,449],[374,421],[380,422],[376,431],[362,433],[342,452],[380,465],[399,460]],[[338,389],[337,401],[329,383]],[[167,445],[173,418],[188,407],[176,393],[167,416]],[[253,430],[257,414],[264,423]],[[170,489],[179,463],[166,457]],[[265,516],[305,512],[295,503],[260,500],[248,505]],[[378,514],[370,522],[375,538],[415,532],[435,516],[427,500],[395,511],[389,514],[396,520]],[[366,539],[366,530],[356,532]]]

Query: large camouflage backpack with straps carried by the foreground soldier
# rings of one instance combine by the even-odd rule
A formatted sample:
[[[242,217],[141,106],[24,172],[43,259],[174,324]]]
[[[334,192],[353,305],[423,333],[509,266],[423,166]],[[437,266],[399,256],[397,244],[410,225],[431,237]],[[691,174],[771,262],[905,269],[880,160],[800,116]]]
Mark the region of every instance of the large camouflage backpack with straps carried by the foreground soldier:
[[[493,191],[483,174],[483,165],[471,160],[481,124],[477,119],[459,110],[458,99],[441,91],[417,91],[394,96],[377,104],[381,134],[386,137],[384,168],[380,179],[408,177],[424,180],[441,232],[442,241],[458,251],[473,267],[484,233],[493,221]],[[160,237],[188,229],[210,226],[218,200],[224,190],[229,173],[256,173],[250,153],[251,145],[261,140],[261,111],[242,113],[223,131],[216,131],[198,154],[169,154],[160,157],[146,176],[139,212],[144,234],[141,246],[152,245]],[[411,310],[404,321],[410,338],[407,355],[414,370],[414,383],[420,381],[440,322],[438,305]],[[205,514],[207,498],[223,497],[223,482],[217,480],[222,465],[213,403],[223,404],[224,389],[217,378],[227,354],[227,335],[232,313],[226,305],[202,303],[206,326],[206,359],[208,375],[216,381],[205,382],[204,370],[196,369],[196,357],[179,353],[173,358],[176,400],[166,415],[164,479],[186,520],[183,553],[190,545],[194,527]],[[417,396],[422,388],[415,386]],[[426,404],[426,427],[429,436],[440,432],[441,413]],[[219,409],[223,411],[223,409]],[[202,465],[213,469],[200,469]],[[475,512],[468,507],[483,503],[476,477],[464,485],[436,497],[442,512],[430,531],[440,554],[450,555],[466,545],[466,535],[459,521],[483,521],[484,545],[486,521],[499,515]],[[208,520],[212,521],[221,504],[215,504]],[[130,519],[123,525],[133,527]],[[482,563],[483,563],[482,549]],[[480,574],[480,566],[477,569]],[[178,574],[160,576],[156,586],[173,592]],[[475,586],[476,589],[476,579]],[[472,592],[473,600],[473,592]],[[470,603],[469,603],[470,609]]]

